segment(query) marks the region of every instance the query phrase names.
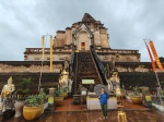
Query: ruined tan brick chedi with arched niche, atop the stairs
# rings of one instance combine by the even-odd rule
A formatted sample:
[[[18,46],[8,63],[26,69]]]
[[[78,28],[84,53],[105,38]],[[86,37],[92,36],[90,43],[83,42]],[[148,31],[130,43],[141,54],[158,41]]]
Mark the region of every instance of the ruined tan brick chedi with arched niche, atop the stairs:
[[[115,59],[116,62],[139,62],[139,50],[113,49],[109,46],[109,35],[107,28],[101,21],[94,20],[85,13],[82,21],[73,23],[66,30],[57,30],[54,38],[54,61],[70,61],[72,47],[77,50],[90,50],[90,46],[96,48],[96,52],[103,62]],[[45,59],[49,60],[49,49],[45,49]],[[25,61],[40,61],[42,48],[26,48],[24,52]]]

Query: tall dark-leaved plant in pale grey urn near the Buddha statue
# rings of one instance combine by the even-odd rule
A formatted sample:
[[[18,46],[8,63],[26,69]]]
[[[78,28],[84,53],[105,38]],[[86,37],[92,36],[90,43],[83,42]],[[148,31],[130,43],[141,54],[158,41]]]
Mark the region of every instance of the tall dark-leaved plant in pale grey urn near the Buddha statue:
[[[14,118],[22,117],[23,106],[26,96],[30,94],[28,85],[31,84],[31,78],[23,78],[20,83],[20,89],[16,90],[16,100],[14,103],[15,114]]]

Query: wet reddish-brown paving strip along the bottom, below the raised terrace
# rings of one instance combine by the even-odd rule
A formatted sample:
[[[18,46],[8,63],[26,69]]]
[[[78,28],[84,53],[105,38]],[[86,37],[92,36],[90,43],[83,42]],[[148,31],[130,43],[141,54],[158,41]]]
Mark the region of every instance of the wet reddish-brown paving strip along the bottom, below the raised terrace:
[[[127,110],[126,119],[118,119],[118,111],[108,111],[108,119],[103,120],[101,111],[44,113],[31,122],[164,122],[164,113],[155,110]],[[23,118],[11,118],[4,122],[30,122]]]

